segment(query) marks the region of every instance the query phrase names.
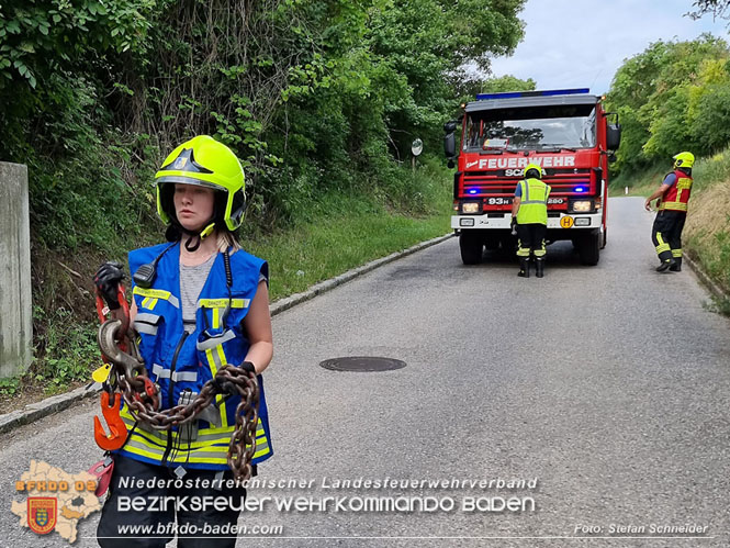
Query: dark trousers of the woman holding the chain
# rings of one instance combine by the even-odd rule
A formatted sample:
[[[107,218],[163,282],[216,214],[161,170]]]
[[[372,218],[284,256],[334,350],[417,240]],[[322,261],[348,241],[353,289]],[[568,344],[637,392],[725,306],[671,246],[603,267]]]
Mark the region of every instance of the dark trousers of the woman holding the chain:
[[[181,478],[183,487],[176,487],[173,483],[170,483],[169,488],[159,487],[157,484],[158,480],[167,482],[167,480],[178,479],[173,469],[148,465],[116,455],[110,484],[110,496],[101,510],[101,519],[97,529],[99,546],[102,548],[164,548],[176,536],[177,532],[178,548],[234,548],[236,546],[235,538],[213,538],[216,535],[210,529],[215,526],[221,529],[227,524],[235,526],[246,499],[246,490],[242,487],[225,485],[227,480],[233,479],[231,470],[226,470],[223,474],[222,488],[220,490],[214,489],[212,481],[216,473],[215,470],[188,469]],[[134,485],[120,484],[123,477],[134,480]],[[202,487],[195,488],[194,484],[198,479],[201,481],[209,480],[209,487],[205,489]],[[156,480],[156,484],[147,485],[149,480]],[[187,481],[192,483],[192,488],[186,489],[184,482]],[[138,482],[142,482],[143,485],[138,485]],[[217,511],[212,505],[205,510],[193,511],[190,507],[192,505],[191,496],[211,496],[213,499],[223,496],[226,502],[229,501],[229,504],[226,504],[224,511]],[[153,504],[153,501],[160,501],[162,497],[169,499],[167,508],[164,504],[160,504],[160,507],[156,508],[157,512],[151,512],[148,510],[135,511],[128,507],[130,503],[127,501],[134,500],[134,497],[139,497],[137,500],[143,501],[146,505]],[[188,508],[180,508],[176,513],[176,500],[183,501]],[[176,514],[177,526],[173,525]],[[126,527],[134,525],[146,526],[147,529],[132,530]],[[204,529],[206,526],[209,532]],[[209,538],[190,538],[202,536]],[[235,534],[223,532],[218,533],[217,536],[235,537]]]

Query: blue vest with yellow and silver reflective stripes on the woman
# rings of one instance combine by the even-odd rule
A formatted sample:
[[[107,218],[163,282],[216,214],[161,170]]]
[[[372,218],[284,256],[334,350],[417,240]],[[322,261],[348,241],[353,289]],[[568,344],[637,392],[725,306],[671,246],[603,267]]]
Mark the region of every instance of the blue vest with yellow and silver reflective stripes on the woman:
[[[169,244],[130,253],[130,271],[154,261]],[[165,253],[157,264],[157,276],[150,289],[133,283],[137,304],[134,328],[139,334],[139,353],[147,373],[159,385],[160,409],[173,407],[186,398],[194,399],[202,387],[225,365],[240,365],[249,342],[242,321],[256,295],[260,275],[268,278],[265,260],[238,250],[231,254],[232,307],[223,325],[228,305],[223,254],[218,254],[198,298],[195,331],[187,334],[180,307],[180,245]],[[258,376],[259,421],[256,427],[256,452],[252,463],[273,455],[269,416],[263,393],[263,379]],[[191,401],[191,400],[190,400]],[[235,412],[240,396],[216,396],[215,405],[203,413],[205,420],[193,420],[171,430],[156,430],[134,418],[126,406],[121,415],[130,437],[119,451],[154,465],[212,470],[227,469],[228,444],[236,424]]]

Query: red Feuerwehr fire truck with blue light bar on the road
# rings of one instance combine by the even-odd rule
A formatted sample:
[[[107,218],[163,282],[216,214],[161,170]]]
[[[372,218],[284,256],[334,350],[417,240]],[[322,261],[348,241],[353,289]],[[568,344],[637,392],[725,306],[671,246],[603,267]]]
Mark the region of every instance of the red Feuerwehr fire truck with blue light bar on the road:
[[[453,178],[451,227],[459,234],[464,265],[481,262],[484,247],[512,253],[515,187],[528,164],[542,168],[552,191],[547,243],[570,239],[581,262],[596,265],[606,245],[608,163],[618,148],[618,115],[603,109],[588,89],[478,94],[448,122],[445,152]],[[614,123],[608,118],[615,115]]]

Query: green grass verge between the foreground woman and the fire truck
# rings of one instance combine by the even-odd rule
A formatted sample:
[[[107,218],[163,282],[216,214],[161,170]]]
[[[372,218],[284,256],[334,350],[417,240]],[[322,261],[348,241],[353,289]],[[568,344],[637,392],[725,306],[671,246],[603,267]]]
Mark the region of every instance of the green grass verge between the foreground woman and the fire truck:
[[[269,293],[276,301],[449,233],[452,177],[440,161],[425,160],[415,172],[398,169],[385,191],[318,195],[302,208],[293,226],[242,234],[242,245],[269,262]]]

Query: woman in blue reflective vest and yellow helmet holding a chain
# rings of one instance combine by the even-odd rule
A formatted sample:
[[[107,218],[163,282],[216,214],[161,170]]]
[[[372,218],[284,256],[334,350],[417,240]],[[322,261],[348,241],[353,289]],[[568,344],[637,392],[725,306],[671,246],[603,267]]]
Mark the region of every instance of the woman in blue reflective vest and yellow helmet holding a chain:
[[[139,336],[144,374],[149,378],[145,381],[153,393],[157,389],[159,413],[192,402],[203,391],[217,395],[196,409],[192,421],[176,418],[171,428],[160,429],[131,413],[145,392],[133,398],[125,392],[120,414],[127,436],[112,451],[111,495],[99,523],[99,544],[164,547],[177,532],[179,547],[233,547],[236,535],[231,527],[246,495],[228,469],[242,398],[220,372],[234,366],[234,373],[245,374],[254,385],[258,382],[256,443],[249,445],[255,447],[251,463],[256,465],[272,455],[260,374],[273,351],[268,266],[244,251],[234,236],[244,216],[245,182],[240,163],[228,147],[206,135],[194,137],[167,157],[155,179],[168,244],[130,253],[134,295],[130,316]],[[122,266],[111,262],[94,278],[112,310],[120,307],[122,278]],[[155,511],[150,506],[136,512],[125,505],[135,497],[155,504]],[[167,504],[157,504],[165,497]],[[225,503],[201,506],[194,504],[195,497],[222,497]],[[148,530],[141,534],[128,525]],[[227,538],[211,538],[216,532]]]

